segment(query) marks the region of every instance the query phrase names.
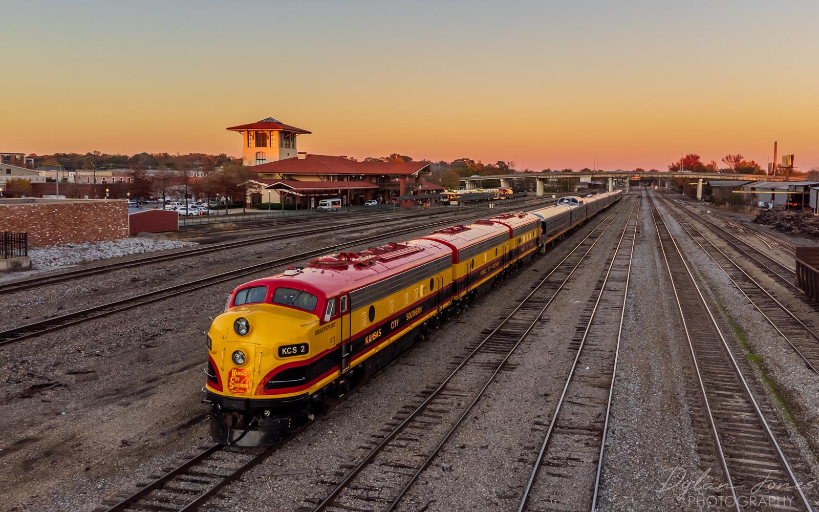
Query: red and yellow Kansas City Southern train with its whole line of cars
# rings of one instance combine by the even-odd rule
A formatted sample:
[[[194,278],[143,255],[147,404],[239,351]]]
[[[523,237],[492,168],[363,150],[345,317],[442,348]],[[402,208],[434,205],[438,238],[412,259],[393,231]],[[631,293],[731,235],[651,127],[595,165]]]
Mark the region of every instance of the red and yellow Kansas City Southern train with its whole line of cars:
[[[238,286],[207,333],[211,436],[279,442],[620,196],[561,197]]]

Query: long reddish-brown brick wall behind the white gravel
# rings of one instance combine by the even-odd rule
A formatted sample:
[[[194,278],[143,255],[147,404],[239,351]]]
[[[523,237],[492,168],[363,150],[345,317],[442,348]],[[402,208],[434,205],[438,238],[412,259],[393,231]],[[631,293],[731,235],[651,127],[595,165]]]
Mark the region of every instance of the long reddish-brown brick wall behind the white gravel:
[[[128,203],[113,200],[0,200],[0,231],[28,232],[29,247],[125,238],[128,236]]]

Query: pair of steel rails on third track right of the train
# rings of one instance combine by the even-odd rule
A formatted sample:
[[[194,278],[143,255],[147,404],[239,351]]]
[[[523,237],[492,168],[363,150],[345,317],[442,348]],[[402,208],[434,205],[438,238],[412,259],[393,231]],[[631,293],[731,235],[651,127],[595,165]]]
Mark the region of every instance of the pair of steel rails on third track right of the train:
[[[717,455],[719,455],[719,460],[720,460],[720,463],[722,465],[723,474],[725,475],[726,481],[728,483],[728,487],[731,490],[731,497],[733,498],[733,503],[735,505],[735,510],[737,510],[737,512],[742,512],[742,507],[740,506],[740,501],[738,500],[737,495],[736,495],[736,489],[734,487],[733,478],[731,478],[731,472],[728,469],[728,464],[727,464],[726,457],[725,457],[725,449],[724,449],[724,447],[722,445],[722,441],[720,440],[720,435],[717,432],[717,422],[713,417],[713,410],[712,410],[711,404],[710,404],[710,402],[708,400],[708,393],[706,392],[705,383],[704,383],[702,373],[700,371],[700,366],[699,366],[699,362],[697,360],[697,355],[696,355],[694,343],[691,340],[691,335],[690,335],[690,331],[689,331],[689,327],[688,327],[688,322],[686,321],[686,313],[685,313],[685,310],[683,310],[682,302],[680,300],[680,295],[679,295],[679,292],[677,290],[677,284],[675,282],[674,274],[673,274],[672,269],[671,269],[671,264],[668,261],[668,257],[667,257],[667,253],[666,253],[667,248],[666,248],[666,245],[663,243],[663,238],[662,238],[661,230],[660,230],[660,224],[661,223],[663,225],[663,229],[665,229],[665,231],[667,233],[667,238],[669,238],[671,240],[672,244],[673,244],[674,250],[676,251],[676,255],[679,257],[683,268],[685,268],[685,270],[686,270],[686,274],[688,275],[691,283],[694,285],[694,289],[696,291],[696,297],[699,297],[699,304],[701,304],[703,306],[704,310],[708,313],[708,319],[711,320],[711,325],[713,326],[713,328],[714,328],[715,332],[717,333],[720,341],[722,342],[722,347],[725,349],[725,354],[728,357],[728,359],[731,361],[731,367],[734,369],[736,378],[741,383],[741,387],[744,389],[744,392],[745,392],[746,396],[748,396],[749,401],[750,401],[751,405],[753,406],[753,410],[755,411],[755,413],[756,413],[756,415],[757,415],[757,417],[758,417],[758,419],[760,421],[760,424],[762,425],[762,430],[767,435],[767,438],[771,441],[771,445],[774,447],[774,449],[776,451],[776,455],[779,457],[779,460],[781,460],[781,463],[782,463],[783,467],[785,468],[785,472],[788,474],[788,477],[790,478],[790,482],[794,484],[794,488],[796,489],[796,492],[798,492],[798,494],[799,494],[799,499],[803,502],[803,505],[805,505],[805,508],[809,512],[812,512],[812,507],[811,507],[810,503],[808,502],[808,497],[804,495],[802,487],[799,484],[799,480],[796,478],[796,475],[794,474],[793,469],[790,467],[790,464],[788,463],[788,460],[785,458],[785,454],[782,452],[781,447],[779,446],[779,442],[776,441],[776,436],[774,436],[773,432],[771,431],[771,427],[767,423],[767,419],[765,419],[765,416],[762,414],[762,410],[759,408],[758,402],[756,401],[756,398],[753,396],[753,392],[751,392],[751,389],[750,389],[748,383],[745,381],[744,375],[742,374],[742,370],[740,369],[740,365],[737,364],[737,362],[736,362],[736,360],[734,358],[734,355],[731,352],[731,347],[728,346],[728,342],[726,341],[725,337],[722,335],[722,329],[719,328],[719,325],[717,324],[717,319],[714,318],[713,312],[711,311],[711,308],[708,306],[708,302],[705,301],[705,297],[703,296],[702,291],[699,289],[699,285],[695,281],[694,274],[691,272],[690,267],[688,266],[688,263],[686,262],[685,257],[682,255],[682,251],[680,250],[680,247],[677,246],[676,241],[671,236],[671,230],[668,229],[668,226],[667,226],[665,220],[663,220],[663,216],[660,215],[656,205],[654,204],[654,198],[651,198],[650,201],[651,201],[651,216],[652,216],[652,220],[654,220],[654,227],[655,227],[656,232],[657,232],[657,239],[658,239],[658,242],[659,242],[660,251],[663,253],[663,261],[665,261],[666,270],[668,271],[668,277],[669,277],[669,280],[670,280],[670,282],[672,284],[672,289],[674,291],[674,297],[676,299],[677,309],[680,312],[680,319],[681,319],[683,328],[684,328],[684,330],[686,332],[686,339],[688,341],[688,345],[689,345],[690,352],[691,352],[691,360],[692,360],[692,362],[694,364],[695,373],[697,374],[697,379],[699,381],[700,391],[703,394],[705,410],[708,413],[708,422],[711,424],[713,437],[714,437],[714,442],[715,442],[715,444],[717,446]],[[670,249],[668,251],[670,252]]]

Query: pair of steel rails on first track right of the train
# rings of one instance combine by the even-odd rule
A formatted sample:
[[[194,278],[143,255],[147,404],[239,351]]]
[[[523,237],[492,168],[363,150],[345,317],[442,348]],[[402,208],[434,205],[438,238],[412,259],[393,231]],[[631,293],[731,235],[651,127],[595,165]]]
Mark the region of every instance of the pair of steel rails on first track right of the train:
[[[486,337],[481,342],[479,342],[477,344],[477,346],[474,347],[473,350],[470,351],[468,353],[468,355],[464,357],[463,360],[461,360],[459,365],[457,365],[455,367],[455,369],[453,369],[450,372],[450,374],[448,374],[446,376],[446,378],[444,378],[443,382],[441,382],[441,384],[439,384],[434,391],[432,391],[432,392],[430,392],[428,394],[428,396],[424,399],[424,401],[418,407],[416,407],[403,421],[401,421],[400,424],[398,424],[395,428],[393,428],[391,433],[389,433],[389,434],[387,434],[387,436],[383,437],[382,441],[377,446],[373,447],[373,449],[371,451],[369,451],[369,453],[367,455],[364,456],[364,459],[360,460],[360,462],[358,464],[356,464],[353,469],[351,469],[349,472],[347,472],[345,474],[344,478],[342,478],[342,481],[340,483],[338,483],[336,485],[336,487],[333,487],[333,490],[328,494],[328,496],[326,496],[323,501],[320,501],[319,504],[314,507],[313,512],[320,512],[321,510],[326,510],[328,508],[328,506],[333,505],[333,502],[346,489],[348,484],[351,483],[352,479],[355,478],[355,476],[357,474],[359,474],[361,472],[361,470],[364,469],[375,458],[375,456],[378,455],[387,446],[387,444],[392,441],[393,438],[395,438],[400,432],[402,432],[404,430],[404,428],[409,424],[409,422],[411,422],[415,417],[417,417],[424,410],[427,409],[427,406],[430,404],[430,402],[432,402],[432,400],[434,398],[436,398],[438,395],[440,395],[441,392],[445,389],[446,385],[448,383],[450,383],[450,381],[455,377],[455,375],[459,374],[460,370],[463,369],[468,364],[468,362],[473,359],[473,356],[475,356],[478,353],[478,351],[481,350],[482,347],[486,346],[486,344],[491,341],[491,339],[495,336],[495,333],[498,333],[501,328],[503,328],[506,324],[508,324],[509,320],[514,317],[514,315],[518,312],[518,310],[521,310],[523,308],[523,306],[525,304],[527,304],[527,302],[530,299],[532,299],[532,297],[544,285],[544,283],[546,283],[546,281],[548,279],[550,279],[552,274],[554,274],[563,265],[563,262],[567,261],[568,258],[570,256],[572,256],[582,246],[582,244],[584,242],[586,242],[586,240],[588,238],[590,238],[591,235],[594,234],[595,231],[598,228],[600,228],[600,226],[602,226],[606,222],[606,220],[609,220],[615,213],[617,213],[617,211],[618,211],[618,208],[613,209],[613,211],[611,213],[609,213],[609,215],[607,217],[605,217],[604,220],[602,220],[600,222],[600,224],[595,226],[595,229],[593,229],[588,235],[586,235],[585,238],[583,238],[580,242],[578,242],[577,246],[574,247],[572,249],[572,251],[568,253],[568,255],[564,256],[563,259],[561,261],[559,261],[559,263],[557,265],[555,265],[554,269],[552,269],[549,272],[549,274],[546,274],[546,276],[543,279],[541,279],[541,281],[539,283],[536,284],[536,287],[533,288],[532,291],[529,292],[527,294],[527,296],[523,298],[522,301],[518,302],[518,305],[515,306],[514,310],[512,310],[509,313],[509,315],[506,315],[505,318],[500,321],[500,324],[498,324],[495,328],[493,328],[491,333],[487,334]],[[512,351],[509,351],[509,355],[507,355],[504,358],[504,360],[500,363],[500,365],[498,365],[498,369],[495,369],[495,373],[492,374],[493,376],[487,381],[486,386],[484,386],[482,388],[482,390],[479,392],[477,397],[480,397],[480,395],[482,395],[482,393],[486,390],[486,387],[488,387],[488,383],[491,383],[491,380],[494,378],[497,371],[503,365],[505,365],[505,362],[506,362],[506,360],[508,360],[511,353],[519,346],[520,342],[523,341],[523,338],[526,338],[526,336],[532,330],[534,325],[536,325],[536,323],[541,319],[541,316],[543,315],[543,312],[546,310],[547,307],[550,306],[550,304],[554,300],[554,297],[557,297],[558,293],[563,289],[563,286],[565,285],[565,283],[567,283],[568,279],[571,278],[572,274],[574,274],[574,271],[577,270],[577,268],[581,265],[581,263],[583,261],[585,261],[586,256],[589,254],[591,249],[593,247],[595,247],[597,242],[600,241],[600,238],[602,237],[603,233],[605,233],[606,230],[609,229],[609,226],[611,226],[613,224],[613,221],[614,220],[611,220],[609,222],[609,224],[605,225],[603,231],[601,231],[600,234],[598,235],[598,237],[595,239],[595,242],[593,242],[591,244],[591,246],[588,248],[588,250],[586,251],[586,253],[581,256],[580,260],[577,262],[576,265],[574,265],[574,267],[572,268],[572,270],[570,271],[570,273],[568,274],[566,279],[563,279],[563,282],[560,283],[559,288],[557,289],[557,291],[554,292],[552,297],[550,297],[549,301],[546,302],[545,306],[543,306],[543,308],[541,308],[540,313],[538,315],[536,315],[536,317],[535,317],[535,321],[525,330],[525,333],[523,334],[523,336],[520,339],[518,339],[518,342],[516,342],[514,344],[514,347],[513,347]],[[475,401],[473,401],[473,403],[469,406],[469,408],[474,406],[476,401],[477,401],[477,398],[476,398]],[[461,416],[459,421],[462,421],[463,418],[464,418],[464,415]],[[447,434],[447,435],[449,435],[449,434]],[[440,450],[440,446],[442,446],[442,445],[439,445],[438,450]],[[434,453],[432,455],[434,455]],[[425,461],[424,464],[428,464],[429,460],[431,460],[431,458],[428,458],[428,460]],[[419,473],[419,472],[417,472],[417,473]],[[417,478],[417,474],[414,475],[413,478]],[[409,487],[405,487],[403,492],[406,492],[406,489],[408,489],[408,488]],[[392,505],[390,505],[389,510],[392,510],[396,506],[397,502],[400,501],[401,496],[403,496],[403,494],[399,494],[396,501],[394,501],[392,503]]]

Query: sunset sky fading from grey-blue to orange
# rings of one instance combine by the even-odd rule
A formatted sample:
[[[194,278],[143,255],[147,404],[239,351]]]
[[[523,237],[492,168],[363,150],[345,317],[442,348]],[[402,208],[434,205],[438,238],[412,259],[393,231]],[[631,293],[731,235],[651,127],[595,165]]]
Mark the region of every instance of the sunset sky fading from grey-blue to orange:
[[[819,2],[3,2],[0,151],[819,165]]]

